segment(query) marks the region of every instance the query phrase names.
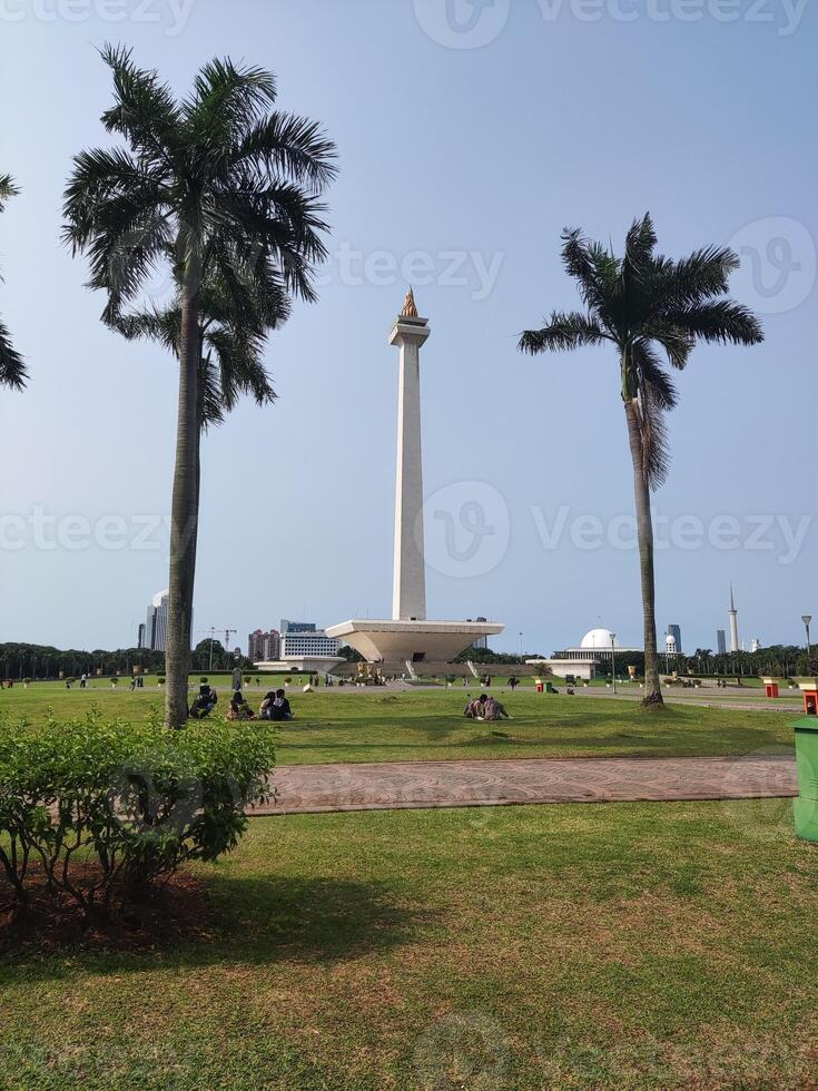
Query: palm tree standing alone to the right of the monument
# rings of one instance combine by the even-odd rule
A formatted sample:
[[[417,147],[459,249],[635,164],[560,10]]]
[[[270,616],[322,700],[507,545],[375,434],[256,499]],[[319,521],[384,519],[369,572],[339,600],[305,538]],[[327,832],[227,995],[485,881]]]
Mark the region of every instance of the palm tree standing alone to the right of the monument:
[[[564,230],[562,242],[562,262],[576,281],[584,311],[553,312],[541,330],[523,333],[519,347],[534,354],[611,344],[617,352],[637,503],[643,704],[661,705],[650,494],[670,469],[664,415],[678,399],[661,354],[681,370],[697,342],[755,345],[763,334],[747,307],[726,298],[739,264],[730,249],[709,246],[679,261],[663,257],[656,253],[650,215],[633,222],[621,258],[579,230]]]

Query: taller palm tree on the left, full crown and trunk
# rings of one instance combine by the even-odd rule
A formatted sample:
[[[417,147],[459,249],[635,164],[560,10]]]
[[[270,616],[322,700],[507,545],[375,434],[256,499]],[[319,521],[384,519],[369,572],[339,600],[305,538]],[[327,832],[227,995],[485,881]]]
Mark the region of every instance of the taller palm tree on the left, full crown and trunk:
[[[107,46],[115,102],[102,115],[128,147],[75,158],[65,237],[90,258],[89,285],[116,321],[171,255],[179,293],[179,399],[170,524],[165,719],[187,718],[201,404],[201,288],[216,274],[253,327],[258,297],[315,298],[326,256],[318,197],[335,175],[334,145],[317,122],[273,110],[276,81],[259,68],[213,60],[177,101],[129,50]],[[240,274],[236,262],[242,265]],[[247,276],[254,285],[247,291]]]

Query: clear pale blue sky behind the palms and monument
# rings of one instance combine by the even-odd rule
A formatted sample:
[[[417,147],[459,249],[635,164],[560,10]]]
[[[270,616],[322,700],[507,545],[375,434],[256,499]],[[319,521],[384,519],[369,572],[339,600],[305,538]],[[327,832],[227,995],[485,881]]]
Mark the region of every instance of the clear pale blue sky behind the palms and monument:
[[[713,647],[732,579],[743,638],[801,639],[800,615],[818,615],[818,528],[804,524],[791,550],[781,522],[795,533],[815,510],[815,9],[9,0],[0,23],[0,171],[24,189],[0,218],[0,314],[31,371],[24,394],[0,394],[0,640],[132,643],[167,584],[166,535],[151,533],[152,549],[134,537],[169,507],[175,366],[100,325],[104,301],[59,243],[71,156],[108,142],[110,81],[95,51],[107,39],[179,94],[213,55],[266,66],[280,107],[319,118],[339,149],[321,301],[296,306],[269,347],[280,400],[243,405],[205,443],[197,630],[229,625],[244,646],[282,616],[388,616],[386,337],[410,256],[433,327],[430,616],[496,618],[507,625],[496,647],[511,650],[520,632],[526,650],[551,652],[600,622],[638,642],[637,557],[609,542],[632,511],[615,360],[532,360],[515,343],[576,303],[559,262],[564,225],[620,245],[650,209],[671,255],[745,248],[735,294],[767,333],[759,348],[699,348],[680,376],[656,509],[692,522],[658,554],[660,631],[678,622],[686,650]],[[61,541],[32,524],[37,509],[61,520]],[[493,533],[470,537],[475,512]],[[100,530],[108,515],[120,523]],[[130,540],[88,544],[67,517],[97,539],[124,542],[125,525]],[[719,537],[735,548],[716,548]]]

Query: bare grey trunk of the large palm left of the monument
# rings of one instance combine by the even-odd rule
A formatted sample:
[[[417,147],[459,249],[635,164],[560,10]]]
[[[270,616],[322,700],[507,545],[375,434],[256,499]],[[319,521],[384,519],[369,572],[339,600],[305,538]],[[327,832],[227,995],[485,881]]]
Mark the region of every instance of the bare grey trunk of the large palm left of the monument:
[[[187,685],[190,674],[190,628],[199,521],[198,293],[198,269],[188,267],[181,293],[179,413],[170,508],[170,579],[165,645],[167,727],[184,727],[188,718]]]

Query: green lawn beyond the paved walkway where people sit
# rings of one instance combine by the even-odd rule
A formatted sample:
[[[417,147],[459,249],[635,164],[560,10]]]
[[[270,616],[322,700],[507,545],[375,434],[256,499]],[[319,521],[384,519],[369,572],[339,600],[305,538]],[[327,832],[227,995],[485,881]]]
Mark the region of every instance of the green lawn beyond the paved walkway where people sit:
[[[254,687],[255,689],[255,687]],[[479,687],[472,692],[479,691]],[[669,705],[662,712],[630,701],[534,692],[502,696],[513,719],[464,719],[464,690],[384,690],[290,694],[297,718],[279,726],[284,765],[332,761],[420,761],[452,758],[566,757],[574,755],[746,754],[792,744],[780,711],[739,711]],[[223,695],[223,702],[225,701]],[[248,699],[260,700],[250,692]],[[32,723],[53,708],[57,718],[81,716],[93,704],[105,715],[139,719],[161,711],[161,695],[99,687],[66,690],[38,682],[0,692],[0,714]],[[260,725],[269,730],[270,725]]]

